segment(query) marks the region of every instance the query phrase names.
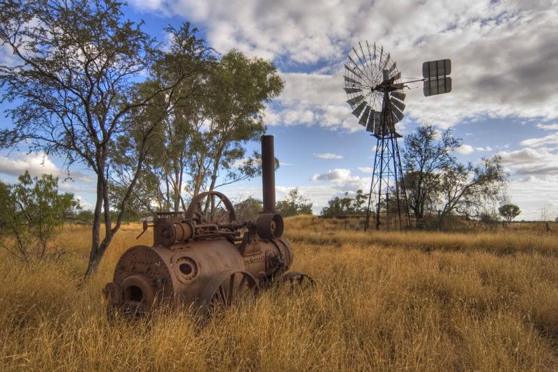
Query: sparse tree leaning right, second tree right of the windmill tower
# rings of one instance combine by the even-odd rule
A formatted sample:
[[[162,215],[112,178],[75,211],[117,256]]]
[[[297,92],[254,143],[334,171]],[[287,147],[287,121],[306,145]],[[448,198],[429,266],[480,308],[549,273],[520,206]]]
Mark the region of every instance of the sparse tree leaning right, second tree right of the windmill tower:
[[[450,214],[480,215],[487,203],[495,203],[501,197],[508,180],[499,156],[483,158],[480,165],[455,164],[441,174],[442,209],[438,214],[438,226]]]

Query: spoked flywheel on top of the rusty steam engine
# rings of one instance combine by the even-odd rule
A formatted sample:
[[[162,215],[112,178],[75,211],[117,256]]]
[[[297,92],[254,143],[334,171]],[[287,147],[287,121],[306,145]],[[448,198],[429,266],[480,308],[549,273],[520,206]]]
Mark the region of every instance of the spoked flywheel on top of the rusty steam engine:
[[[195,223],[227,223],[236,221],[232,202],[223,193],[200,193],[186,210],[186,218]]]

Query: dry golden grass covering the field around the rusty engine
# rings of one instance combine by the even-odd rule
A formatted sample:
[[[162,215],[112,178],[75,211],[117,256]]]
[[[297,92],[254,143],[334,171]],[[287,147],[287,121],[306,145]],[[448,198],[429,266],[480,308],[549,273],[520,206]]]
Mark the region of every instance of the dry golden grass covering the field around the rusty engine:
[[[87,282],[87,228],[59,237],[68,254],[55,262],[0,253],[0,371],[558,368],[555,235],[342,227],[289,219],[293,269],[316,288],[270,290],[205,325],[188,311],[107,325],[101,289],[139,225],[116,235]]]

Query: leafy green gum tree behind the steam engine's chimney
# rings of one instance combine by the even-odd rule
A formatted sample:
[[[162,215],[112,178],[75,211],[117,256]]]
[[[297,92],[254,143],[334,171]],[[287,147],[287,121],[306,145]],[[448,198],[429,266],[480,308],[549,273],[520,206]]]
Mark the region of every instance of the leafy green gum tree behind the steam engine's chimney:
[[[197,94],[175,105],[154,136],[137,189],[145,204],[178,211],[188,197],[261,174],[260,154],[247,156],[244,144],[264,133],[264,103],[282,90],[275,66],[233,50],[179,89],[192,84],[199,84]]]

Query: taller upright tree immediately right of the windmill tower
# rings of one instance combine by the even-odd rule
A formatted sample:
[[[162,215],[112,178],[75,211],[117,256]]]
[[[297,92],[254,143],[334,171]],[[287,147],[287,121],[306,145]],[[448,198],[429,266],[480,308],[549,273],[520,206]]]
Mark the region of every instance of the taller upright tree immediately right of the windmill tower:
[[[455,165],[451,151],[460,145],[461,140],[453,137],[450,130],[440,135],[430,124],[418,127],[416,133],[405,138],[403,181],[417,227],[423,225],[425,213],[435,206],[440,191],[440,176],[444,170]]]

